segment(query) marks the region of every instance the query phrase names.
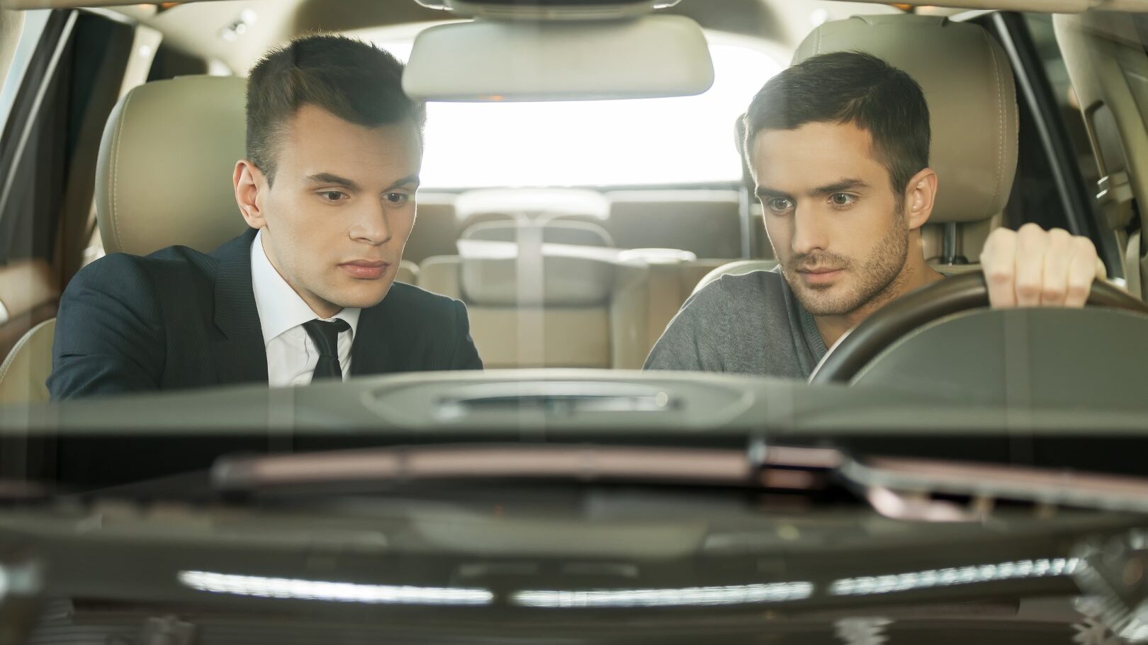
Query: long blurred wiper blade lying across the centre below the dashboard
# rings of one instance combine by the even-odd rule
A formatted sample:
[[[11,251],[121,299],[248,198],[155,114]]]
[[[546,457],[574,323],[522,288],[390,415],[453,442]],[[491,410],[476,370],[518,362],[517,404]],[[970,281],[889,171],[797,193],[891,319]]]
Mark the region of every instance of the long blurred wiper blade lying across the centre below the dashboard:
[[[211,469],[211,482],[225,491],[311,483],[515,477],[784,489],[809,488],[815,472],[831,471],[840,463],[839,452],[819,448],[746,451],[453,444],[223,458]]]

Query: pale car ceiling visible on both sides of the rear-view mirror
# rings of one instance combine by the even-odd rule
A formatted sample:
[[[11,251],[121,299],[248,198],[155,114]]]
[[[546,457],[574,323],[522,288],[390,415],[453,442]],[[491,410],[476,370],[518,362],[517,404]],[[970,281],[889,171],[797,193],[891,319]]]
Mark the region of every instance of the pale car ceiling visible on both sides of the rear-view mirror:
[[[138,5],[110,10],[161,31],[169,45],[217,59],[236,73],[246,73],[269,47],[300,33],[354,31],[370,37],[382,28],[449,18],[413,0],[223,0],[160,11]],[[760,38],[788,57],[815,21],[898,10],[838,0],[683,0],[667,13],[689,16],[706,29]],[[234,40],[222,38],[222,30],[245,11],[254,11],[257,20]]]

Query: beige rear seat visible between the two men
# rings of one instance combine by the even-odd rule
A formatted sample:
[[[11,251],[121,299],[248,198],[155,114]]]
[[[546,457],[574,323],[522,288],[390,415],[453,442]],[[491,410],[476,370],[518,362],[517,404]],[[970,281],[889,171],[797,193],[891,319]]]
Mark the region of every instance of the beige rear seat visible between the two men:
[[[419,286],[467,304],[489,368],[638,368],[697,281],[724,259],[614,248],[584,222],[486,222]]]

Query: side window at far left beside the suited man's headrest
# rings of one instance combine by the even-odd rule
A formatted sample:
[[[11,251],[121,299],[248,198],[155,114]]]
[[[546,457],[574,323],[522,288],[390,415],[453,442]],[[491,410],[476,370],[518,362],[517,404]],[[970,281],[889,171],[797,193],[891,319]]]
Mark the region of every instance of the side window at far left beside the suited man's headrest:
[[[0,91],[0,356],[55,316],[83,262],[100,135],[134,32],[90,11],[23,16]]]

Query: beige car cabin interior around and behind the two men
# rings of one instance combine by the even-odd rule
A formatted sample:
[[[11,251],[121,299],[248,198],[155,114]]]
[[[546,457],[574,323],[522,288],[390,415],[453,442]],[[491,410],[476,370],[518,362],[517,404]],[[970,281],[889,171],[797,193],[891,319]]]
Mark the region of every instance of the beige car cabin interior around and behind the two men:
[[[1142,49],[1120,38],[1131,22],[1104,11],[907,9],[744,0],[664,10],[707,33],[732,33],[778,65],[863,49],[909,71],[932,111],[932,165],[943,188],[922,242],[941,271],[976,270],[994,227],[1037,220],[1093,236],[1110,277],[1142,296],[1134,195],[1148,185],[1132,170],[1145,147],[1128,138],[1143,132],[1141,103],[1135,84],[1124,84],[1123,93],[1108,87],[1120,90],[1145,64]],[[245,153],[243,73],[266,47],[321,29],[402,50],[411,34],[443,18],[397,1],[5,10],[14,31],[22,21],[25,31],[33,21],[44,29],[68,21],[70,36],[62,62],[44,79],[59,114],[44,110],[25,145],[6,150],[61,194],[9,191],[2,202],[9,235],[0,265],[0,355],[8,358],[0,401],[46,401],[52,318],[85,263],[171,244],[208,251],[243,230],[227,169]],[[18,41],[5,40],[8,57]],[[1017,41],[1026,50],[1018,53]],[[1088,71],[1099,64],[1109,73]],[[744,104],[728,102],[735,116]],[[432,111],[428,147],[434,119]],[[425,186],[398,279],[465,302],[488,367],[639,368],[698,288],[722,273],[776,264],[739,163],[736,121],[723,129],[724,158],[740,172],[722,181]],[[63,122],[65,135],[53,129]],[[1049,178],[1057,191],[1033,191]],[[1096,181],[1099,199],[1091,196]]]

